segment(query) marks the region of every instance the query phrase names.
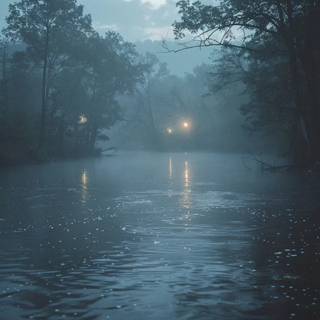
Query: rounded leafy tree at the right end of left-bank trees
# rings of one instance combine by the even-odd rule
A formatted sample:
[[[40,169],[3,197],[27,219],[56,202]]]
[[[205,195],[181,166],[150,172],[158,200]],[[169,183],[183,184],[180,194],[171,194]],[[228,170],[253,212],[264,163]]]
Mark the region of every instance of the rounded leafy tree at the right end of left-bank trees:
[[[94,145],[96,138],[108,139],[101,132],[120,119],[116,95],[132,91],[137,78],[137,53],[134,45],[124,41],[119,33],[109,31],[104,37],[91,39],[95,52],[86,83],[90,106],[87,110],[87,142]]]

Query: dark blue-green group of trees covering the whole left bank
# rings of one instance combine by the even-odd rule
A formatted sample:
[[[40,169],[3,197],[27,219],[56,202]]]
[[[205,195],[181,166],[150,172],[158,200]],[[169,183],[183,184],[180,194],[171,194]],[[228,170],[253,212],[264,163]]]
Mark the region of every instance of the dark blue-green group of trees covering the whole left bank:
[[[121,118],[116,95],[141,65],[132,43],[101,37],[76,0],[17,1],[2,30],[0,160],[94,154]],[[12,42],[25,49],[12,51]]]

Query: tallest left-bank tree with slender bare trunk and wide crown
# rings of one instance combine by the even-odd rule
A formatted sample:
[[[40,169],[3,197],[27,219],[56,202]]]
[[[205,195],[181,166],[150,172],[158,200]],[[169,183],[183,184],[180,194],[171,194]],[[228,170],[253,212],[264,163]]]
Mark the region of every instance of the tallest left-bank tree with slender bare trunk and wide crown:
[[[76,5],[76,0],[21,0],[9,4],[6,22],[4,34],[13,41],[26,43],[42,68],[38,140],[41,150],[46,121],[47,72],[63,56],[63,45],[76,42],[78,36],[91,32],[91,17],[83,15],[83,6]]]

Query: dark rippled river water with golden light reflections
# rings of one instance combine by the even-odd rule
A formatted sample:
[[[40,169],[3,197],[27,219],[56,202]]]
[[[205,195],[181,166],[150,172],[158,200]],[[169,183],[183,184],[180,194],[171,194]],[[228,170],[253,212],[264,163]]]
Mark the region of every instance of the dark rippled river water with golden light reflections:
[[[0,178],[1,319],[319,316],[316,183],[192,153]]]

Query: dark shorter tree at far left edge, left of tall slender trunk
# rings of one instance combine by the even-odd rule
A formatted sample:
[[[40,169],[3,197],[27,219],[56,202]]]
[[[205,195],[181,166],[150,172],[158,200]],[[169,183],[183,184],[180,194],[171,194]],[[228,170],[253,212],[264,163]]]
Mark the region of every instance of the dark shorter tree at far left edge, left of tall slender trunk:
[[[31,72],[29,62],[23,51],[7,57],[7,105],[0,108],[1,162],[23,162],[35,151],[34,118],[40,106],[38,88],[41,81]],[[4,92],[0,97],[4,97]]]

